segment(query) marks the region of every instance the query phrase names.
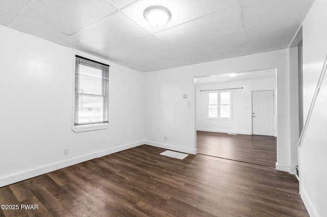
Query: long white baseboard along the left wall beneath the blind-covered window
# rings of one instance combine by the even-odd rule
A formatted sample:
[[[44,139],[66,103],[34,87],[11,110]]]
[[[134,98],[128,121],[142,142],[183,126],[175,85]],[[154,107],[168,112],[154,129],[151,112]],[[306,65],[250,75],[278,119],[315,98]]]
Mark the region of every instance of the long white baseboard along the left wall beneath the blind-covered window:
[[[124,151],[126,149],[130,149],[130,148],[133,148],[133,147],[136,147],[139,145],[144,145],[144,144],[145,144],[145,141],[139,141],[136,143],[126,144],[126,145],[122,145],[119,147],[110,148],[110,149],[107,149],[104,151],[95,152],[95,153],[87,154],[84,156],[79,156],[76,158],[64,160],[61,162],[57,162],[56,164],[42,166],[42,167],[32,169],[32,170],[29,170],[26,172],[12,174],[7,177],[0,178],[0,187],[6,186],[9,184],[13,184],[15,182],[19,182],[22,180],[26,180],[29,178],[33,178],[33,177],[36,177],[36,176],[39,176],[39,175],[42,175],[45,173],[50,173],[52,171],[59,170],[59,169],[65,168],[65,167],[76,165],[76,164],[79,164],[79,163],[87,161],[87,160],[95,159],[95,158],[102,157],[102,156],[112,154],[115,152],[119,152],[119,151]]]

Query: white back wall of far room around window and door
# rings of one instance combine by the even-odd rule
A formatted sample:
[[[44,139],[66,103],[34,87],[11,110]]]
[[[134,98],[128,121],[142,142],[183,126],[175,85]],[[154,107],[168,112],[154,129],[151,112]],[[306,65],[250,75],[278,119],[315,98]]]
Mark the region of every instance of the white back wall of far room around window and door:
[[[273,90],[276,78],[240,80],[236,82],[205,84],[196,86],[196,125],[199,131],[252,134],[252,91]],[[215,90],[239,88],[232,91],[232,120],[207,119],[207,92]],[[274,107],[275,107],[274,99]],[[275,110],[275,109],[274,109]],[[276,112],[275,112],[276,113]],[[214,126],[215,125],[215,126]],[[276,122],[274,121],[274,126]],[[276,132],[276,128],[275,128]]]

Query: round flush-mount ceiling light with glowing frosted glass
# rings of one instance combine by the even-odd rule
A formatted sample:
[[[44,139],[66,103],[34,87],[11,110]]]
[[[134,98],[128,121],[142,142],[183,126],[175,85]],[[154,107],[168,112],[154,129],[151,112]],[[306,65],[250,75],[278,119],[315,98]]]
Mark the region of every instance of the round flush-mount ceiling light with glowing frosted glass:
[[[162,6],[151,6],[144,11],[144,17],[154,26],[161,26],[171,18],[170,11]]]

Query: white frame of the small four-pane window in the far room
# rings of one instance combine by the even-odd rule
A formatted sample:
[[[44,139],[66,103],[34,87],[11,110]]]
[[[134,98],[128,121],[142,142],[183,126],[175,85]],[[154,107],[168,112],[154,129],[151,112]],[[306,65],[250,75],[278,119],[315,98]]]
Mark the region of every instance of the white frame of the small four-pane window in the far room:
[[[229,118],[222,118],[220,117],[220,106],[221,105],[226,105],[226,104],[221,104],[221,93],[229,93]],[[210,93],[217,93],[217,104],[209,104],[209,94]],[[217,105],[217,117],[209,117],[209,106],[210,105]],[[207,92],[206,95],[206,119],[207,120],[232,120],[232,91],[231,90],[220,90],[220,91],[210,91]]]

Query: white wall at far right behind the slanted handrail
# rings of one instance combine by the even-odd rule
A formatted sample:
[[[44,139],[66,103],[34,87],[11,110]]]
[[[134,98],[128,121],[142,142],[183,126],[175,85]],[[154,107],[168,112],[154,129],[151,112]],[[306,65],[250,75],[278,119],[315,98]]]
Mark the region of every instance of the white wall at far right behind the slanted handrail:
[[[315,1],[303,21],[303,117],[307,118],[324,58],[327,55],[327,1]],[[307,133],[299,149],[300,193],[311,216],[327,216],[326,77]]]

